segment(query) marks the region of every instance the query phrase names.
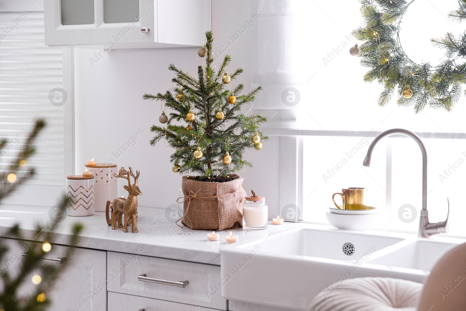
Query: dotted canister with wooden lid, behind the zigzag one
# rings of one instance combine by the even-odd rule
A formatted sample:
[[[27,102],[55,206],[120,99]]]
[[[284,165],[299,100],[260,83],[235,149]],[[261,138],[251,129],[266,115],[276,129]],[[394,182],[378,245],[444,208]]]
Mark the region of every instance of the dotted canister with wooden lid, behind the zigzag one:
[[[86,164],[88,172],[94,177],[95,188],[95,211],[105,212],[107,201],[113,202],[118,196],[117,177],[113,173],[118,174],[117,165],[111,163],[96,163],[96,165]]]

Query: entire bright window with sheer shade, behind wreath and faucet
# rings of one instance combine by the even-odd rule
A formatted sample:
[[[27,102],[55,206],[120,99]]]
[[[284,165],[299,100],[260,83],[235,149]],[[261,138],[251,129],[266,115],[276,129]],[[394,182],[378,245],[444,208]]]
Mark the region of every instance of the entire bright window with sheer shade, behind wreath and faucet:
[[[310,61],[303,63],[303,70],[314,76],[301,88],[296,87],[301,94],[311,96],[294,124],[295,134],[303,135],[303,219],[327,223],[325,212],[333,206],[332,194],[343,187],[366,187],[368,204],[383,210],[378,228],[417,232],[422,207],[422,157],[418,145],[411,138],[384,138],[375,147],[371,166],[362,165],[373,139],[372,131],[404,128],[417,132],[427,149],[430,221],[445,220],[449,198],[450,234],[466,235],[462,200],[466,187],[466,98],[463,96],[452,112],[427,108],[416,115],[412,106],[397,107],[396,95],[387,106],[378,107],[382,87],[364,83],[367,69],[360,65],[358,57],[349,55],[349,47],[360,43],[350,37],[351,30],[362,21],[359,4],[338,5],[336,10],[331,3],[315,1],[309,23],[320,26],[308,28],[315,33],[315,48],[307,51],[306,59]],[[444,51],[433,47],[430,39],[448,31],[455,35],[463,32],[464,25],[446,18],[457,7],[457,1],[450,0],[412,3],[400,33],[411,59],[439,63]],[[436,25],[427,25],[423,16],[431,16]],[[340,52],[330,59],[327,53],[331,56],[334,50]],[[305,96],[301,95],[301,100]],[[336,198],[341,202],[339,196]],[[404,204],[416,208],[417,216],[411,222],[398,217]]]

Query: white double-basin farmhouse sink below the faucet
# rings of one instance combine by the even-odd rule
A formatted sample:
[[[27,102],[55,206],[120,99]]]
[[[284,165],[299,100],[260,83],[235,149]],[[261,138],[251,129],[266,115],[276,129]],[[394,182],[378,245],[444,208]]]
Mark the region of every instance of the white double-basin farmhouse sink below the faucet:
[[[343,251],[345,243],[354,248]],[[437,247],[435,246],[437,245]],[[451,243],[414,235],[293,228],[256,241],[219,249],[222,297],[287,310],[306,311],[326,289],[329,296],[347,278],[382,276],[422,283]],[[423,260],[427,256],[428,260]],[[376,264],[377,263],[377,264]]]

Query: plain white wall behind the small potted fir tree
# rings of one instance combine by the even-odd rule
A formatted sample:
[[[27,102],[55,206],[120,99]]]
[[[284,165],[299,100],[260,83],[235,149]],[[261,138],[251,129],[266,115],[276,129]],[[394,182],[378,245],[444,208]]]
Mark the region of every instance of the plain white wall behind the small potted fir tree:
[[[218,56],[222,47],[232,55],[230,71],[237,67],[244,69],[239,82],[244,83],[245,92],[249,91],[250,63],[254,62],[248,55],[250,30],[235,41],[231,35],[241,29],[250,15],[247,0],[212,0],[214,47],[219,48]],[[95,58],[96,49],[75,49],[75,173],[82,172],[86,159],[94,157],[97,162],[113,159],[118,166],[132,166],[141,171],[140,206],[165,208],[175,203],[181,177],[171,171],[172,149],[163,141],[149,145],[150,127],[159,124],[160,103],[144,101],[142,96],[144,92],[155,94],[174,87],[171,83],[174,75],[167,69],[170,63],[194,75],[196,67],[205,64],[197,49],[112,50],[93,66],[89,58]],[[143,133],[136,135],[138,138],[133,142],[130,138],[138,131]],[[114,153],[121,147],[127,150],[117,158]],[[240,172],[245,178],[243,187],[247,193],[254,189],[265,195],[269,208],[273,208],[278,203],[278,138],[264,143],[260,151],[246,152],[245,158],[253,161],[254,168]],[[120,180],[118,195],[126,195],[123,184]]]

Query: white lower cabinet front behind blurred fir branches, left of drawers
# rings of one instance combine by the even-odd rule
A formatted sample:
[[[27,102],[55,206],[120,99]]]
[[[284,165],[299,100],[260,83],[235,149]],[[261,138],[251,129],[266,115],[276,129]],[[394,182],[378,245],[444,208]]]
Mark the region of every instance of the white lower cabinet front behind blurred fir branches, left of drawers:
[[[0,238],[0,244],[8,248],[2,259],[2,273],[8,271],[14,276],[21,266],[21,255],[27,254],[24,241]],[[53,245],[48,258],[63,258],[69,246]],[[76,248],[68,265],[55,282],[51,293],[46,293],[52,304],[49,311],[103,311],[107,310],[106,261],[105,251]],[[61,264],[49,262],[49,264]],[[37,272],[36,272],[37,273]],[[20,288],[23,294],[31,294],[35,285],[30,281],[34,273],[26,278]]]

